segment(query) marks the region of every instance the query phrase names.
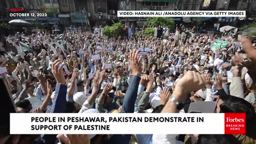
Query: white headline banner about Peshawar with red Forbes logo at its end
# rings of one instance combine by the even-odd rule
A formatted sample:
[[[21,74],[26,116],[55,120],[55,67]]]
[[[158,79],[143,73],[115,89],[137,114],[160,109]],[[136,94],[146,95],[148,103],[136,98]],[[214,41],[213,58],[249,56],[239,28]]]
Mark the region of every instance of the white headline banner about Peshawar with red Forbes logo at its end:
[[[10,134],[244,134],[245,114],[10,114]]]

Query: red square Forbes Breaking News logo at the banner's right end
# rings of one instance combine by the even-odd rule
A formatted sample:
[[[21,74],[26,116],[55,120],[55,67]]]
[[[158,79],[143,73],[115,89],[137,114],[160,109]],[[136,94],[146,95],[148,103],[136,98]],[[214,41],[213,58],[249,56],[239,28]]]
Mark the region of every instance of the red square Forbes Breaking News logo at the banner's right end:
[[[245,113],[225,114],[225,134],[245,134],[245,125]]]

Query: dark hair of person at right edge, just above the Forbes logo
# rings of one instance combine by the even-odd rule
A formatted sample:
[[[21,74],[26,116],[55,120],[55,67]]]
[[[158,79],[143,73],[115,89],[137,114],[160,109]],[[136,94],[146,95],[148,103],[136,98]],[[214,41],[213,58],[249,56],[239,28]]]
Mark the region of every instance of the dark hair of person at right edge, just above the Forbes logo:
[[[221,98],[220,113],[245,113],[246,125],[253,123],[255,119],[254,108],[250,102],[234,96]]]

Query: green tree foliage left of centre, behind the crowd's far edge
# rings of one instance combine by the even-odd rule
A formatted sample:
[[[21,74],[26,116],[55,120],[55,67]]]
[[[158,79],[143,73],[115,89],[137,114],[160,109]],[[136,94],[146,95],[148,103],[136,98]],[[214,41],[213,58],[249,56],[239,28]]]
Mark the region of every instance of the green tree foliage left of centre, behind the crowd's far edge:
[[[108,37],[119,37],[121,35],[121,31],[124,29],[124,24],[119,22],[114,22],[112,26],[106,26],[103,28],[103,35]]]

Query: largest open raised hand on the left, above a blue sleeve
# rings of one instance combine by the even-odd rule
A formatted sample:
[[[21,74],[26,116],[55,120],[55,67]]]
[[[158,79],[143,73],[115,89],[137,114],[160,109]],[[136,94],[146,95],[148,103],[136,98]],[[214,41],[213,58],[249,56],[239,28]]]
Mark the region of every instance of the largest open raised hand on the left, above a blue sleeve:
[[[66,79],[63,75],[62,67],[60,66],[61,60],[55,60],[52,63],[52,74],[56,78],[57,83],[66,85]]]

